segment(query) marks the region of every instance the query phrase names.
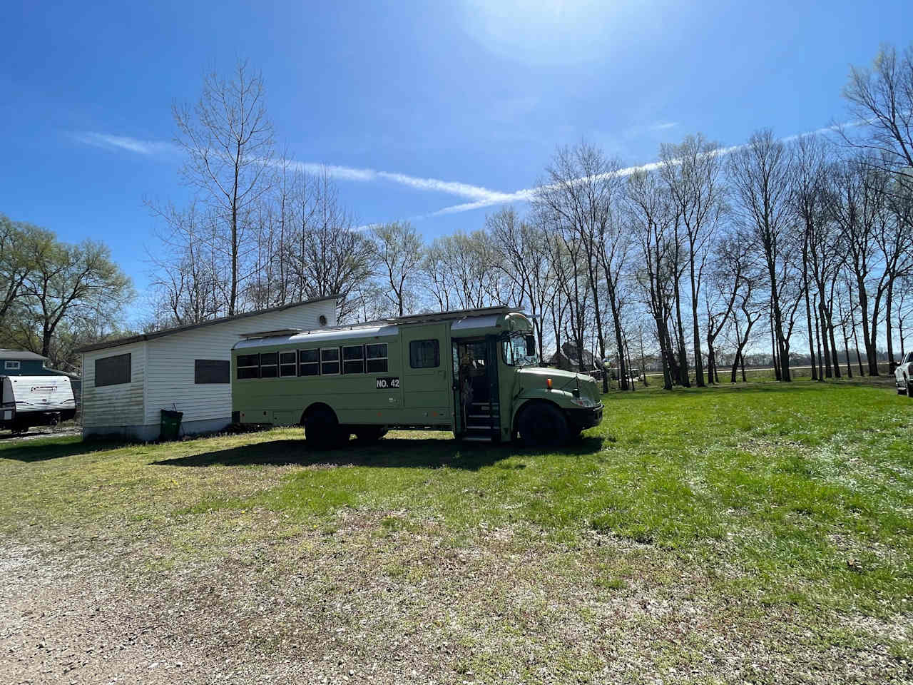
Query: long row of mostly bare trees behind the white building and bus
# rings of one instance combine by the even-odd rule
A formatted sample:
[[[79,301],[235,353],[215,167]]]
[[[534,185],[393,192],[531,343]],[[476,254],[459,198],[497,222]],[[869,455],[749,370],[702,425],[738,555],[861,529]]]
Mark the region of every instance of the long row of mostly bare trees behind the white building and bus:
[[[877,374],[913,309],[911,56],[884,47],[851,69],[848,125],[734,148],[691,135],[641,168],[582,142],[554,154],[522,213],[430,242],[408,222],[358,227],[329,174],[276,153],[263,79],[239,63],[174,109],[199,192],[155,208],[155,323],[331,293],[343,321],[510,304],[533,314],[540,350],[590,350],[622,385],[632,346],[667,388],[718,383],[723,364],[734,382],[765,347],[783,381],[796,356],[814,378],[852,374],[851,351]]]

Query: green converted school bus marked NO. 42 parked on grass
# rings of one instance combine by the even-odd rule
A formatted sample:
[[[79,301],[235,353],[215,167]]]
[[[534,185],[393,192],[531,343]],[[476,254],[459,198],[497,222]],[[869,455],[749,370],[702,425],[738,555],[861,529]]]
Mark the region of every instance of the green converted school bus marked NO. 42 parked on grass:
[[[231,364],[236,424],[303,426],[319,448],[391,428],[550,447],[603,418],[595,381],[541,368],[530,320],[509,307],[250,333]]]

